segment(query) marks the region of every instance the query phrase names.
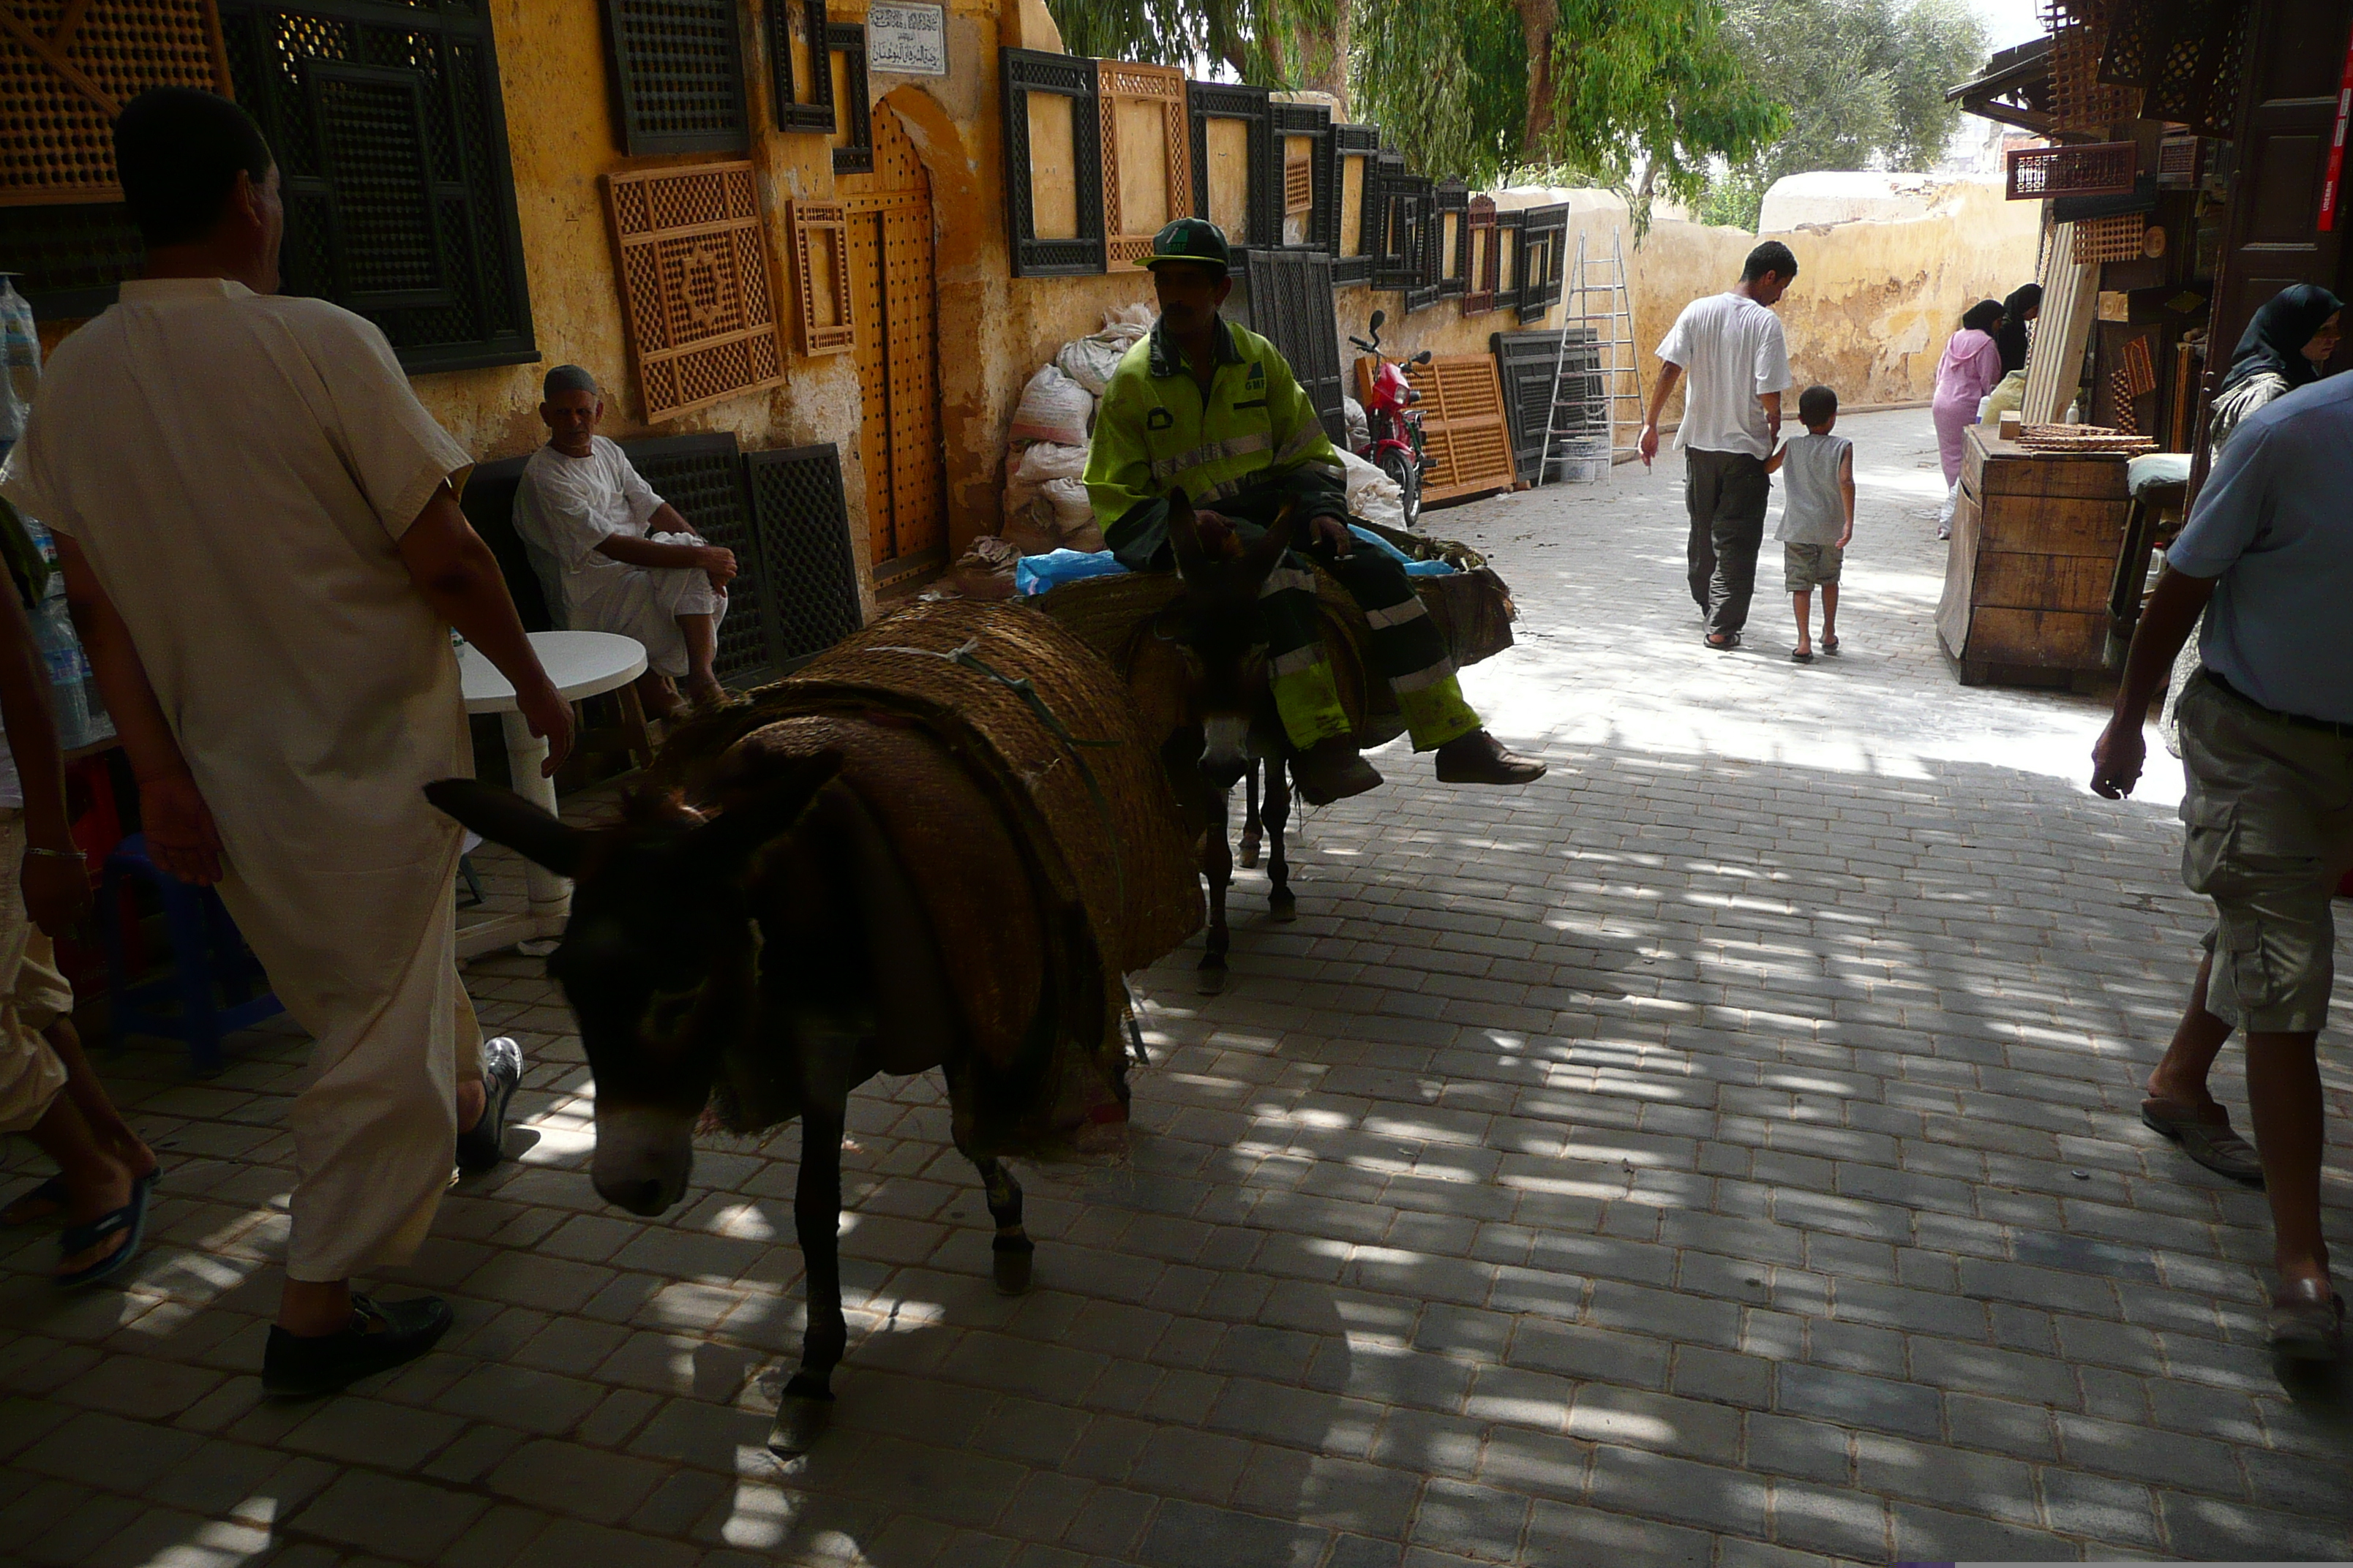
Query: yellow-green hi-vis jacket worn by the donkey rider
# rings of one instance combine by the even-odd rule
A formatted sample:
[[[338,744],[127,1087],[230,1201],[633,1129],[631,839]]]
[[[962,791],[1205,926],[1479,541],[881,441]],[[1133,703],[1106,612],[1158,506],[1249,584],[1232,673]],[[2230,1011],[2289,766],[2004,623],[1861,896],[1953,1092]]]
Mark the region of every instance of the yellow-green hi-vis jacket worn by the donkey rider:
[[[1214,508],[1259,475],[1318,468],[1344,480],[1315,407],[1273,343],[1219,317],[1209,395],[1155,324],[1120,360],[1094,414],[1087,501],[1106,529],[1136,501],[1181,487]]]

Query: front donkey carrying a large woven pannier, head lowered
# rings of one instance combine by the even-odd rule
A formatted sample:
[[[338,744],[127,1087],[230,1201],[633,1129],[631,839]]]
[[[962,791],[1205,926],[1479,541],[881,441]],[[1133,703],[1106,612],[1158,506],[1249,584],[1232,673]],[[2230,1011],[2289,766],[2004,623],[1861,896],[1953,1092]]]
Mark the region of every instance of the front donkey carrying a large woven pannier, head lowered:
[[[569,827],[475,780],[428,795],[576,879],[548,971],[595,1074],[607,1201],[659,1215],[685,1194],[701,1124],[800,1117],[809,1324],[779,1453],[824,1429],[849,1340],[835,1239],[849,1091],[946,1072],[998,1288],[1024,1291],[1021,1187],[1000,1159],[1118,1138],[1122,976],[1200,924],[1125,689],[1005,607],[913,607],[692,719],[614,827]]]

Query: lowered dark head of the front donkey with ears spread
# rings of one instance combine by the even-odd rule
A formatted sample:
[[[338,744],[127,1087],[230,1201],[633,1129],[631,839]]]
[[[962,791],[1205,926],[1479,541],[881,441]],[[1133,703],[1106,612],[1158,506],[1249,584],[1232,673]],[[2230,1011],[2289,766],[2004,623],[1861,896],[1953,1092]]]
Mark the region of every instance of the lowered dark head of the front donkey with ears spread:
[[[426,785],[426,799],[473,832],[574,879],[548,973],[595,1074],[593,1175],[609,1204],[654,1215],[685,1194],[694,1124],[755,1004],[746,882],[840,766],[838,752],[791,762],[708,820],[675,802],[635,802],[624,825],[598,832],[473,778]]]

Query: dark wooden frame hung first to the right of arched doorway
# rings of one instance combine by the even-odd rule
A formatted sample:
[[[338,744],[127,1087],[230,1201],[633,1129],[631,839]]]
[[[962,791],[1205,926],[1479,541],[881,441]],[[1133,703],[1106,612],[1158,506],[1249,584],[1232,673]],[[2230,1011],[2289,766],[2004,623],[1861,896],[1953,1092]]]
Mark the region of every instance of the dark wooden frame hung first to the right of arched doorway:
[[[1101,273],[1104,120],[1094,108],[1094,61],[998,49],[998,73],[1014,277]]]

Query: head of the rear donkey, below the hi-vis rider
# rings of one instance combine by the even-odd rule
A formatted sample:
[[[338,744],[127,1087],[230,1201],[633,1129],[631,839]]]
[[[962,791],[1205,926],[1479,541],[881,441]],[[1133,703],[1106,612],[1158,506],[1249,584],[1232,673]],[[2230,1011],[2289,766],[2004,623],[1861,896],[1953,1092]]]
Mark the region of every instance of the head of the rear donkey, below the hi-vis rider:
[[[1266,696],[1266,625],[1259,592],[1292,548],[1294,508],[1282,508],[1264,536],[1245,545],[1231,531],[1205,531],[1186,494],[1169,491],[1169,548],[1184,592],[1165,611],[1167,632],[1186,651],[1186,710],[1200,722],[1202,780],[1231,790],[1249,771],[1249,722]]]

